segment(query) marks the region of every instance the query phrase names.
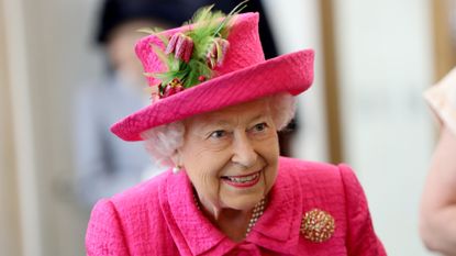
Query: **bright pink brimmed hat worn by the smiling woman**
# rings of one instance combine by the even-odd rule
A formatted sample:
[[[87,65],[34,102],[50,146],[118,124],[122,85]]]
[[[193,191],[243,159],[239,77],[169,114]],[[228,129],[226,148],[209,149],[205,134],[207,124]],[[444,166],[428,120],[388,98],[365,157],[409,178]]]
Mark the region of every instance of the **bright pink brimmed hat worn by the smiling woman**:
[[[158,91],[159,99],[153,100],[151,105],[119,121],[112,125],[111,131],[122,140],[141,141],[142,132],[162,124],[278,92],[289,92],[296,96],[311,86],[313,80],[312,49],[265,60],[258,35],[258,13],[236,14],[234,18],[226,36],[229,47],[222,47],[223,42],[219,42],[216,49],[209,51],[212,55],[208,56],[205,69],[202,70],[209,67],[212,73],[201,71],[203,75],[200,74],[201,76],[197,78],[197,81],[199,80],[197,85],[185,86],[177,78],[170,81],[163,74],[169,71],[169,66],[166,67],[164,63],[166,58],[180,58],[179,67],[191,62],[189,60],[191,51],[193,47],[198,51],[198,45],[194,41],[193,46],[189,32],[200,23],[142,38],[136,44],[136,54],[145,71],[151,75],[147,78],[148,84]],[[188,47],[181,51],[173,48],[176,40],[182,40],[180,42],[182,45],[189,38],[190,46],[187,45]],[[168,45],[165,49],[166,44]],[[171,54],[173,51],[176,52],[175,56]],[[174,74],[182,77],[180,70]],[[194,75],[192,78],[194,80]],[[156,98],[158,98],[157,94]]]

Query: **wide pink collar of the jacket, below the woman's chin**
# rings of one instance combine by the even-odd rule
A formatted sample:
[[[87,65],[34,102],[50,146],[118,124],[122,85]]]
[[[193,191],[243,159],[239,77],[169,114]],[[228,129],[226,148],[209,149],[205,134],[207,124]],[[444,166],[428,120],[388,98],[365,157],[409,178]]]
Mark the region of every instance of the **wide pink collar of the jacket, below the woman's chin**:
[[[276,182],[269,192],[268,207],[246,240],[240,244],[219,231],[197,209],[191,183],[183,171],[168,176],[160,201],[169,205],[163,207],[163,210],[177,246],[180,249],[181,246],[188,247],[192,255],[220,249],[224,254],[246,244],[292,254],[297,248],[302,214],[301,186],[297,182],[299,180],[279,164]]]

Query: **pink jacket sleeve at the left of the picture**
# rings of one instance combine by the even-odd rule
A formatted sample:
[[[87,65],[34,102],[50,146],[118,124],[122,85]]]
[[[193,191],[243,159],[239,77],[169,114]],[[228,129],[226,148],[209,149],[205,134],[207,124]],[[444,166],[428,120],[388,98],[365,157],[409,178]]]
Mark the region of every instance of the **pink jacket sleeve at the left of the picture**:
[[[86,234],[89,256],[130,255],[114,204],[100,200],[93,208]]]

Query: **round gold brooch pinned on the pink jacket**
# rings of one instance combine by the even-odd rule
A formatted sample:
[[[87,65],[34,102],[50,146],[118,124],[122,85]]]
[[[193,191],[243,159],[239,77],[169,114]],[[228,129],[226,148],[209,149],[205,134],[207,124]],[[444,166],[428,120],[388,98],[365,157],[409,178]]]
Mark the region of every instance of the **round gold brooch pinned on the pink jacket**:
[[[325,211],[313,209],[302,216],[301,233],[313,243],[331,238],[334,229],[334,218]]]

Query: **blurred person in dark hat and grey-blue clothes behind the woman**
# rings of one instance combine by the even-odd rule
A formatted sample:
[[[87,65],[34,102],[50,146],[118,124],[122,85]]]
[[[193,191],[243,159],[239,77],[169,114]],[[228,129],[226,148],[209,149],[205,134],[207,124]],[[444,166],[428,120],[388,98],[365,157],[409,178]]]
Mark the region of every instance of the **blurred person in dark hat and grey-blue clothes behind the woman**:
[[[199,7],[216,3],[229,12],[240,0],[104,0],[96,40],[107,55],[107,71],[98,81],[81,89],[76,99],[77,193],[86,207],[120,192],[159,172],[143,144],[124,144],[108,133],[122,116],[151,103],[143,68],[134,44],[143,36],[138,29],[180,25]],[[251,1],[246,11],[260,15],[260,37],[266,58],[277,56],[276,45],[260,1]],[[280,134],[281,153],[290,155],[294,123]]]

